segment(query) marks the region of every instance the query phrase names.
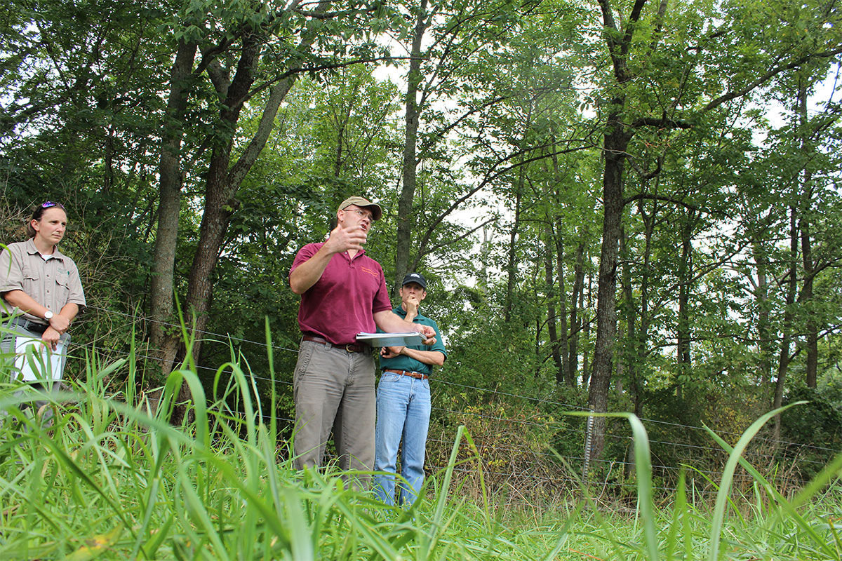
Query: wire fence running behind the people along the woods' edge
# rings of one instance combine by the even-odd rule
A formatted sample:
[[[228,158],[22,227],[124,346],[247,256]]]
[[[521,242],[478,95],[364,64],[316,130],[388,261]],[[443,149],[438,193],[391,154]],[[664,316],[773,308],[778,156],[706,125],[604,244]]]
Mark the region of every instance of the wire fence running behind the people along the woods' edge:
[[[133,322],[147,321],[148,318],[140,318],[135,315],[91,307],[88,310],[94,313],[105,315],[122,315]],[[179,328],[180,325],[163,325]],[[266,341],[252,341],[242,337],[214,333],[211,331],[199,331],[200,336],[206,341],[220,341],[240,346],[239,355],[248,357],[242,347],[253,346],[267,351]],[[77,348],[94,350],[93,343],[78,345]],[[154,363],[160,360],[156,356],[157,349],[143,347],[144,352],[136,351],[135,357]],[[272,345],[273,351],[296,353],[297,349]],[[111,352],[115,357],[120,352]],[[125,353],[127,356],[127,353]],[[216,376],[217,368],[198,365],[200,373],[208,377]],[[275,390],[279,395],[289,397],[291,395],[292,381],[289,376],[271,378],[259,373],[248,372],[248,377],[253,381],[276,384]],[[598,474],[596,484],[605,490],[610,490],[614,495],[631,493],[636,487],[632,474],[635,463],[632,453],[624,453],[613,460],[610,459],[589,459],[586,451],[586,442],[589,439],[589,431],[585,417],[565,417],[564,415],[547,415],[546,410],[554,411],[587,411],[582,406],[565,403],[553,399],[552,394],[542,396],[530,396],[512,392],[500,391],[498,389],[483,388],[470,384],[460,384],[445,378],[432,378],[431,386],[438,386],[441,391],[433,392],[433,420],[430,426],[428,438],[428,458],[426,467],[430,472],[445,468],[450,450],[456,437],[456,427],[465,425],[472,435],[472,442],[476,449],[472,450],[463,443],[459,453],[460,463],[455,472],[457,476],[465,479],[477,479],[479,469],[482,468],[482,475],[486,483],[497,490],[503,490],[511,500],[519,500],[524,497],[534,497],[536,494],[556,493],[563,490],[578,489],[582,482],[584,471],[589,474]],[[223,380],[226,382],[226,380]],[[461,401],[466,403],[482,403],[483,407],[468,405],[454,408],[455,400],[441,399],[449,394],[460,394]],[[505,402],[506,406],[500,405],[495,409],[488,405],[493,400],[498,404]],[[290,398],[291,403],[291,398]],[[516,405],[521,404],[520,409]],[[234,410],[235,415],[245,415],[242,410]],[[284,424],[285,434],[290,434],[295,423],[293,418],[280,415],[277,411],[263,410],[261,415],[265,422],[276,421]],[[290,413],[291,415],[291,413]],[[705,426],[694,426],[673,421],[642,418],[644,426],[647,427],[650,435],[674,434],[678,431],[682,437],[674,440],[662,440],[658,437],[651,437],[649,442],[653,448],[653,474],[656,478],[654,490],[664,494],[674,492],[674,483],[678,480],[679,473],[684,471],[687,478],[692,480],[696,492],[704,495],[716,491],[717,482],[721,479],[722,468],[727,460],[727,453],[718,447],[711,439],[708,428]],[[606,442],[613,442],[615,448],[632,450],[632,438],[627,428],[624,428],[624,421],[616,420],[606,430]],[[720,437],[735,441],[742,433],[729,428],[712,429]],[[575,444],[577,452],[571,453],[571,442]],[[559,450],[559,444],[566,444],[567,453]],[[563,447],[563,446],[561,446]],[[781,450],[786,450],[786,457],[781,455]],[[823,466],[823,461],[815,458],[827,458],[839,453],[839,450],[830,447],[816,446],[813,444],[802,444],[789,442],[780,438],[768,436],[757,436],[752,446],[744,453],[744,457],[761,468],[761,471],[773,474],[773,479],[779,484],[791,486],[800,484],[798,473],[807,468],[807,471],[818,471]],[[658,455],[669,457],[669,462],[659,462]],[[789,459],[786,459],[789,458]],[[810,468],[810,466],[813,466]],[[591,478],[591,484],[594,483]],[[738,471],[734,482],[739,485],[750,485],[753,478],[744,472]],[[469,489],[476,489],[469,485]]]

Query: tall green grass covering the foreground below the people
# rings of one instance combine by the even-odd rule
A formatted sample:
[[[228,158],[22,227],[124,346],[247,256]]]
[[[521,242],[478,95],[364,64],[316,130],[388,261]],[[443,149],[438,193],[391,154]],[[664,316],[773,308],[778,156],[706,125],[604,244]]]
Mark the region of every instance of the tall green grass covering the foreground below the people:
[[[271,349],[271,345],[269,345]],[[188,353],[189,355],[189,353]],[[381,505],[337,469],[296,471],[274,411],[260,408],[248,363],[232,360],[202,384],[195,368],[168,378],[161,402],[135,394],[136,364],[85,357],[86,379],[56,397],[52,426],[6,384],[0,407],[0,558],[136,559],[839,559],[842,455],[788,500],[740,453],[775,412],[729,446],[711,505],[684,484],[655,505],[646,430],[631,414],[638,502],[634,516],[589,498],[505,511],[482,487],[472,503],[455,468],[471,435],[460,427],[447,468],[408,510]],[[269,360],[269,364],[272,361]],[[119,373],[119,391],[105,380]],[[261,373],[265,375],[264,373]],[[269,373],[274,379],[274,373]],[[0,376],[8,374],[0,373]],[[168,422],[182,382],[192,415]],[[212,388],[210,395],[205,387]],[[274,408],[274,396],[272,400]],[[238,411],[244,411],[240,413]],[[268,419],[268,422],[264,422]],[[750,495],[731,481],[742,467]],[[482,472],[480,473],[482,482]],[[683,479],[682,479],[683,481]],[[573,497],[573,494],[571,494]]]

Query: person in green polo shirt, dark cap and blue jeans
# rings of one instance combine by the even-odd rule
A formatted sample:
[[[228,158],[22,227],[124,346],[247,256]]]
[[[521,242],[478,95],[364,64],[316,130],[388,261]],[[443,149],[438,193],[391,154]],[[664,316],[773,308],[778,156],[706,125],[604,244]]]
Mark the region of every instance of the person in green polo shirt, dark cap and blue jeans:
[[[427,279],[408,273],[400,290],[401,305],[392,310],[404,320],[429,325],[435,330],[432,345],[383,347],[380,355],[381,378],[377,386],[375,426],[374,489],[387,505],[395,502],[397,449],[401,451],[402,482],[398,485],[398,505],[411,505],[424,485],[424,453],[429,428],[429,376],[434,366],[445,363],[447,352],[439,325],[422,315],[418,306],[427,297]]]

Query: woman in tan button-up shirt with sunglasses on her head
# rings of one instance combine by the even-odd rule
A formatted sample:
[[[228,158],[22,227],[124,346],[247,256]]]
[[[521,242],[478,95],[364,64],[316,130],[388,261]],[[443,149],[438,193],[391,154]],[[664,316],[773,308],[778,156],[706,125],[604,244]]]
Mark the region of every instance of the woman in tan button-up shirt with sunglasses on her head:
[[[19,336],[40,338],[62,353],[59,371],[52,373],[55,380],[64,370],[67,330],[85,305],[76,263],[57,247],[65,230],[64,207],[47,201],[32,213],[29,240],[9,244],[0,253],[0,309],[4,325],[12,330],[3,333],[0,347],[11,353]]]

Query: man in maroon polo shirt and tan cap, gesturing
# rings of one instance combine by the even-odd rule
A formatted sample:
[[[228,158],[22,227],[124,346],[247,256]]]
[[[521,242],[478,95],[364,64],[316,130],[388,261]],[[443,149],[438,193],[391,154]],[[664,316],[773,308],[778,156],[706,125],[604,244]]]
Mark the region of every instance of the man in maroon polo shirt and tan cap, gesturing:
[[[293,386],[299,469],[322,463],[331,429],[340,468],[374,466],[375,362],[371,347],[356,342],[357,333],[418,331],[425,343],[434,342],[431,328],[392,314],[383,269],[365,255],[371,223],[381,215],[365,198],[345,199],[328,241],[302,247],[290,269],[290,288],[301,294]],[[370,477],[359,479],[367,484]]]

